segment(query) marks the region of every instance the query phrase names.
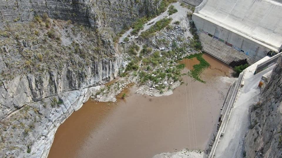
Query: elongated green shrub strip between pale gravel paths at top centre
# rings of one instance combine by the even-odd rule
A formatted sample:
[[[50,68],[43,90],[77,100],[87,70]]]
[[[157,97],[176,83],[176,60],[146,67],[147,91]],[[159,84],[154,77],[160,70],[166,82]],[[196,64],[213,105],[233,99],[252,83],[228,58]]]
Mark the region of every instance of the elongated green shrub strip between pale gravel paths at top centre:
[[[172,21],[172,18],[163,18],[151,26],[148,30],[142,32],[140,35],[142,38],[150,38],[155,35],[155,32],[162,30]]]

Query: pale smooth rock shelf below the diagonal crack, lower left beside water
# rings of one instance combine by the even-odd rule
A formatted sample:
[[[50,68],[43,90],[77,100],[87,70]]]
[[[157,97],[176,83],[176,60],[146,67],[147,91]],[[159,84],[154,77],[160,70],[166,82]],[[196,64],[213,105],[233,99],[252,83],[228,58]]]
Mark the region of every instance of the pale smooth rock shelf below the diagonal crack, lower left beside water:
[[[57,128],[100,86],[60,93],[31,102],[2,121],[3,157],[47,157]],[[9,143],[8,143],[9,142]]]

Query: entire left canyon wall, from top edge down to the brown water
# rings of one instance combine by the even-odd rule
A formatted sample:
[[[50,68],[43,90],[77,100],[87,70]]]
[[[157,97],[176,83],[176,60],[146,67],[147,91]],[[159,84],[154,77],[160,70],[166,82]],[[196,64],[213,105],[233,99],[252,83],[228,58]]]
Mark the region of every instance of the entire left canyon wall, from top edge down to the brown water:
[[[1,1],[0,156],[47,157],[58,126],[125,70],[113,37],[160,2]]]

